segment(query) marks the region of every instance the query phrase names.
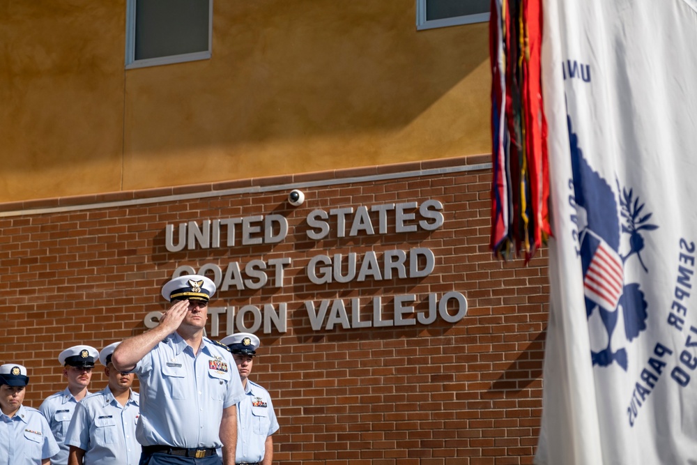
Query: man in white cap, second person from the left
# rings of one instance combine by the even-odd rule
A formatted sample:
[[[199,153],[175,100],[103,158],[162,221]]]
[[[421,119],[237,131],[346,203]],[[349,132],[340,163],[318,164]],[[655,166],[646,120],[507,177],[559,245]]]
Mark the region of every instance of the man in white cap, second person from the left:
[[[68,387],[49,395],[39,406],[39,411],[51,425],[51,431],[61,448],[61,452],[51,458],[52,465],[68,465],[68,445],[64,442],[66,432],[77,402],[89,394],[87,388],[98,357],[97,349],[85,345],[69,347],[58,356],[59,363],[63,365],[63,376],[68,379]]]

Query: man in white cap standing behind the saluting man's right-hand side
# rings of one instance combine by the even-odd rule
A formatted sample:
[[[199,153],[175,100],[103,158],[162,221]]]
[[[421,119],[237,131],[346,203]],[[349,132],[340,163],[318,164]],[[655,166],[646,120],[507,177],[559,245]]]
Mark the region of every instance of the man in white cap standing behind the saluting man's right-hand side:
[[[278,421],[268,391],[249,379],[256,349],[259,349],[260,345],[259,337],[252,333],[236,333],[224,337],[220,343],[230,348],[242,379],[242,386],[245,388],[245,398],[237,404],[238,434],[235,462],[271,465],[273,460],[271,435],[278,431]]]

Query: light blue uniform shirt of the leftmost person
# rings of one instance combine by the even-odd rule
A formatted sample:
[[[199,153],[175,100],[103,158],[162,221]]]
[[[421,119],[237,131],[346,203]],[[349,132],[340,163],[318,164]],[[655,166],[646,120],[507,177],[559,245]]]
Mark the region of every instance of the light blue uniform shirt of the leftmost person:
[[[15,416],[0,411],[0,465],[36,465],[60,448],[41,413],[20,405]]]

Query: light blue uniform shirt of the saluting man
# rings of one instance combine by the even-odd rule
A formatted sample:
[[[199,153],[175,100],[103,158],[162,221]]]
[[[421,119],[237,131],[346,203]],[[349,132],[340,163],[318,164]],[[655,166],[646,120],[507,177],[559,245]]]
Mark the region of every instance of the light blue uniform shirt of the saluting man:
[[[220,448],[222,410],[245,395],[226,347],[204,337],[199,353],[171,333],[135,367],[140,381],[142,445]]]

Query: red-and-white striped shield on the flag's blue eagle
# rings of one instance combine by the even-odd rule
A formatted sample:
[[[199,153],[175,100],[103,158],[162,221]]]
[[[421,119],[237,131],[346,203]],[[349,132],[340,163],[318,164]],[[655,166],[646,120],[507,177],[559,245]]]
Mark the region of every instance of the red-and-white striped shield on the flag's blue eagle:
[[[594,239],[598,246],[583,277],[583,292],[586,298],[607,310],[613,310],[622,296],[625,279],[622,258],[602,238]]]

